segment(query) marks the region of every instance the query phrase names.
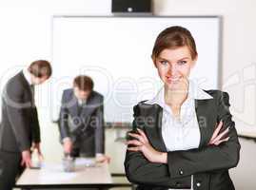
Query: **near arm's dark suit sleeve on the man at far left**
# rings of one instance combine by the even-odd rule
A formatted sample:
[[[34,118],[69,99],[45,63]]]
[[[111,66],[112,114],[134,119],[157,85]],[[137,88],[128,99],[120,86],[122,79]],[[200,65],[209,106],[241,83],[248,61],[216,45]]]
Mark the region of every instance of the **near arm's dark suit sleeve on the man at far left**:
[[[27,118],[24,117],[25,109],[31,106],[30,103],[24,103],[22,85],[10,83],[6,87],[5,101],[7,104],[7,113],[10,126],[13,130],[15,139],[18,143],[20,151],[30,150],[30,137]]]

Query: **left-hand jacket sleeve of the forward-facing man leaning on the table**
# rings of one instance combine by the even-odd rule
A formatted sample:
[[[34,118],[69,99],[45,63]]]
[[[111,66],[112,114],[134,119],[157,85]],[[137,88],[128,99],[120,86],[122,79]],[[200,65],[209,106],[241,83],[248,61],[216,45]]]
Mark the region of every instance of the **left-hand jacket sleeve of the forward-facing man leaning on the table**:
[[[60,138],[63,140],[64,138],[70,137],[69,132],[69,109],[67,107],[67,100],[66,100],[65,91],[62,94],[61,100],[61,109],[60,109],[60,119],[59,119],[59,131],[60,131]]]

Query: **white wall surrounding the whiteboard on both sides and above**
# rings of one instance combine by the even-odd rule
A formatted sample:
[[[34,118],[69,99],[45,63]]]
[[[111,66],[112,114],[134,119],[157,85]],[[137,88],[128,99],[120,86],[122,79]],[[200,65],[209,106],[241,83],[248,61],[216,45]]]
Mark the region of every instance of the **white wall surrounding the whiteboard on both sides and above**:
[[[154,5],[156,15],[223,15],[223,89],[229,92],[236,123],[248,132],[255,128],[256,1],[155,0]],[[13,66],[29,65],[39,58],[51,59],[51,16],[56,14],[108,15],[110,0],[1,0],[1,87]],[[44,118],[49,118],[49,102],[40,100],[49,100],[49,84],[39,88],[44,93],[37,96]],[[40,117],[46,156],[53,159],[60,148],[56,142],[57,128],[42,120],[42,114]]]

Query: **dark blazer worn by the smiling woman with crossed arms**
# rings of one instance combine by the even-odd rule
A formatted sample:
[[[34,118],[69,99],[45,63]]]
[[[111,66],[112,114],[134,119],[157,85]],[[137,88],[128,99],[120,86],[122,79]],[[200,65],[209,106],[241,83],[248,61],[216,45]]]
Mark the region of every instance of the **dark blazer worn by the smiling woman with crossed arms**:
[[[126,174],[130,182],[139,184],[138,189],[190,188],[191,175],[194,190],[235,189],[228,169],[238,164],[240,143],[229,112],[228,94],[219,90],[206,92],[213,99],[195,100],[201,133],[199,148],[195,149],[167,152],[161,133],[162,107],[144,103],[134,106],[133,132],[138,127],[143,129],[155,149],[167,152],[167,164],[162,164],[148,161],[140,152],[127,151]],[[224,123],[223,130],[230,127],[230,139],[218,146],[207,145],[220,121]]]

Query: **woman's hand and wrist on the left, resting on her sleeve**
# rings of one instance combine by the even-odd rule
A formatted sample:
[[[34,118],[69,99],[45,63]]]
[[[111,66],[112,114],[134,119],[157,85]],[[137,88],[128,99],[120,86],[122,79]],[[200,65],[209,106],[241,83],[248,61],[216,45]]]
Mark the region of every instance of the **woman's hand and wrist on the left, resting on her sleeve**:
[[[128,133],[129,136],[135,138],[127,142],[128,145],[133,145],[133,147],[128,147],[128,150],[142,152],[148,161],[167,163],[167,153],[155,150],[148,142],[146,134],[139,128],[137,128],[137,130],[139,134]]]

